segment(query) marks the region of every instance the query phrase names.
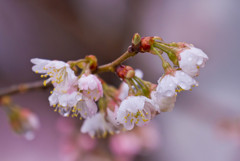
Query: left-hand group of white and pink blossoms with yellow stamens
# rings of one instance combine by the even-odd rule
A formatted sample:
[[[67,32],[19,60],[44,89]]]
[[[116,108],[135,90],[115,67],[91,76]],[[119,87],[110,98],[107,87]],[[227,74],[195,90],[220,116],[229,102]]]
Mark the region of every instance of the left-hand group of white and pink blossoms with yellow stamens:
[[[91,117],[97,112],[96,101],[102,97],[102,84],[97,76],[83,73],[80,77],[68,63],[57,60],[32,59],[33,71],[41,77],[49,77],[54,89],[48,100],[50,105],[63,116]]]

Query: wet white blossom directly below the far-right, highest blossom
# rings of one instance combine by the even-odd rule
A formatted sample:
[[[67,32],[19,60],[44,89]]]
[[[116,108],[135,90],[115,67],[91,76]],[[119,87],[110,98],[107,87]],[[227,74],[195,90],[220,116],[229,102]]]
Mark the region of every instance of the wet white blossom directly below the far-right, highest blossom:
[[[198,86],[198,83],[191,76],[183,71],[172,70],[159,78],[156,90],[164,96],[171,97],[176,95],[176,92],[190,90],[194,86]]]

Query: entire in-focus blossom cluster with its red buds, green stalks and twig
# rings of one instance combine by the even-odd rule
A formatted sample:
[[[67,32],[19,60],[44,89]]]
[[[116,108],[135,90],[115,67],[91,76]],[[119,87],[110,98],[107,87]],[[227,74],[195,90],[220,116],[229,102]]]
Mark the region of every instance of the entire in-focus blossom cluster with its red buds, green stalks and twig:
[[[119,61],[139,52],[154,54],[162,61],[165,72],[157,84],[143,80],[141,71]],[[173,66],[163,58],[164,52]],[[48,77],[44,85],[51,82],[54,87],[50,105],[63,116],[84,118],[81,131],[101,137],[144,126],[157,114],[171,111],[179,92],[198,86],[195,77],[207,60],[208,56],[193,45],[165,43],[159,37],[141,38],[135,34],[128,52],[102,68],[92,55],[67,63],[38,58],[31,61],[34,72]],[[104,71],[118,75],[122,80],[119,89],[95,75]]]

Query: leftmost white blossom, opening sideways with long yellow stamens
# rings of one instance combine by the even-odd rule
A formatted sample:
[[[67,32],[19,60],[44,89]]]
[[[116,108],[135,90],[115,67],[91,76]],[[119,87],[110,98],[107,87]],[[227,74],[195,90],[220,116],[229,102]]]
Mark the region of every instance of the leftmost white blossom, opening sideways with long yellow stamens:
[[[56,87],[58,84],[68,84],[69,81],[76,78],[69,64],[63,61],[34,58],[31,59],[31,62],[34,64],[32,67],[34,72],[41,73],[41,77],[49,76],[44,81],[44,85],[51,81],[54,87]]]

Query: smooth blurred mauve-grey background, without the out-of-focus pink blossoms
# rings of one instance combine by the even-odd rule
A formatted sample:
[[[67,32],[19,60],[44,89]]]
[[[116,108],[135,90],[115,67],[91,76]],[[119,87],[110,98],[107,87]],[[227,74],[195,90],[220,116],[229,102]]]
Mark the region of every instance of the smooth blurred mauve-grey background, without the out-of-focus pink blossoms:
[[[99,64],[110,62],[135,32],[189,42],[210,58],[197,78],[200,86],[179,94],[173,112],[154,119],[157,148],[135,160],[239,161],[239,6],[239,0],[0,0],[0,87],[39,80],[31,71],[35,57],[67,61],[95,54]],[[139,54],[126,63],[156,82],[162,70],[155,58]],[[120,82],[114,74],[103,77]],[[39,116],[33,141],[14,134],[0,110],[0,160],[62,160],[60,116],[48,95],[13,96]]]

